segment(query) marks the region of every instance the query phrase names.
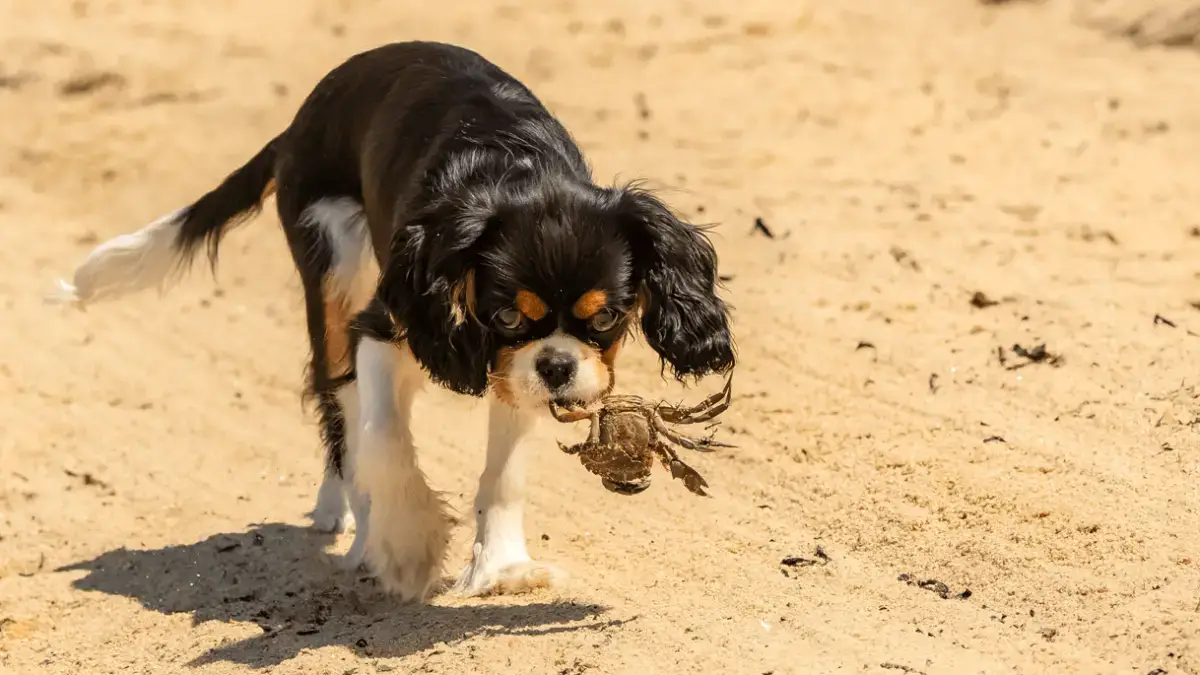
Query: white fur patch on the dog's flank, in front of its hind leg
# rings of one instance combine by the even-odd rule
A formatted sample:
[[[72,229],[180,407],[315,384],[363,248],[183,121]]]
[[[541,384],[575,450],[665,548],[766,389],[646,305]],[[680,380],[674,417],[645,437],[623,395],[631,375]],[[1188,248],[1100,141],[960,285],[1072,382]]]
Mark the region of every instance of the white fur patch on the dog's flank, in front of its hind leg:
[[[362,204],[349,197],[318,199],[300,215],[301,227],[316,227],[334,250],[330,289],[353,313],[371,301],[379,281],[379,264],[371,250]]]

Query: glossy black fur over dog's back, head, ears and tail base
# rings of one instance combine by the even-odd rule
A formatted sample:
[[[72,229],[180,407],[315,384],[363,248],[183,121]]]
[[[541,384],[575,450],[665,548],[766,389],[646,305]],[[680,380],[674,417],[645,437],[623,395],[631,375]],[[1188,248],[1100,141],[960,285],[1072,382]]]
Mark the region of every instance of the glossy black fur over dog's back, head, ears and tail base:
[[[404,340],[454,392],[482,395],[500,348],[556,328],[607,348],[632,325],[638,294],[641,329],[664,368],[684,378],[733,366],[703,233],[647,191],[596,186],[558,120],[474,52],[406,42],[334,68],[283,133],[190,207],[180,249],[203,241],[215,259],[221,235],[258,208],[271,179],[304,283],[310,390],[335,468],[344,429],[334,392],[354,374],[329,370],[322,293],[332,250],[300,222],[322,199],[362,205],[383,270],[352,341]],[[536,293],[548,313],[515,334],[494,317],[518,289]],[[592,289],[622,315],[604,334],[570,311]]]

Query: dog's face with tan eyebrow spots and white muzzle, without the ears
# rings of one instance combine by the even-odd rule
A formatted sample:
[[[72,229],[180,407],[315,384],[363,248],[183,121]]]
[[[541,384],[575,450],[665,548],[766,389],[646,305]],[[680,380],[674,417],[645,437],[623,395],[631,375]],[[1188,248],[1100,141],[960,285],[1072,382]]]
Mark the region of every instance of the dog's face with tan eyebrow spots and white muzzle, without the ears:
[[[491,386],[515,406],[589,404],[612,389],[634,315],[632,252],[599,214],[539,211],[502,216],[473,273]]]

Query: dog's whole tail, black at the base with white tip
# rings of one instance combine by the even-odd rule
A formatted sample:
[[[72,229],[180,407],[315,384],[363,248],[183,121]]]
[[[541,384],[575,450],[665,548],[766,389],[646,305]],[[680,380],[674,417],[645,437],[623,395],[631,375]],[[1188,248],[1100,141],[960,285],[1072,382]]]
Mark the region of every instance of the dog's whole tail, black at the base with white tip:
[[[215,267],[224,233],[257,214],[275,192],[277,144],[272,139],[192,205],[97,246],[71,281],[59,281],[52,299],[85,304],[152,287],[164,291],[187,271],[202,245]]]

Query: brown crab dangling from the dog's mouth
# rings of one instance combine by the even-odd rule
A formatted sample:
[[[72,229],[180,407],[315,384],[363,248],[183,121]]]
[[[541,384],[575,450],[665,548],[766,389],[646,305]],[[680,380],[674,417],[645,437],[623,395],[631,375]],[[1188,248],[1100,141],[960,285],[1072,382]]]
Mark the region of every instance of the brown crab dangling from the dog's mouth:
[[[558,443],[566,454],[577,455],[583,467],[601,478],[601,484],[619,495],[636,495],[650,486],[650,468],[658,458],[673,478],[688,490],[707,496],[708,482],[684,464],[671,443],[690,450],[732,448],[712,438],[691,438],[672,430],[668,424],[698,424],[716,418],[730,407],[732,380],[725,388],[692,407],[650,404],[641,396],[610,395],[599,407],[550,404],[558,422],[570,424],[590,420],[588,440],[575,446]]]

